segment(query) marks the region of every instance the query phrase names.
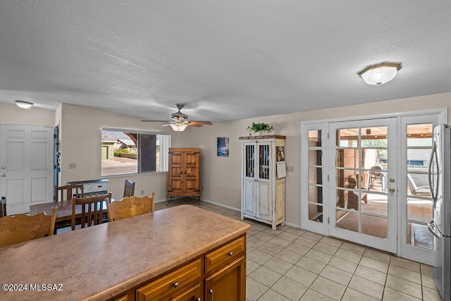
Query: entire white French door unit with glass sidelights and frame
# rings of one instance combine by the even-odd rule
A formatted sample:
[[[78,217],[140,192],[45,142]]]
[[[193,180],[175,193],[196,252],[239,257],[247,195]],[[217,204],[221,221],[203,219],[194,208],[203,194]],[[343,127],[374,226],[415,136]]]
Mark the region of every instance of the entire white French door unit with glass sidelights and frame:
[[[433,265],[428,164],[447,115],[396,115],[301,124],[301,228]]]

